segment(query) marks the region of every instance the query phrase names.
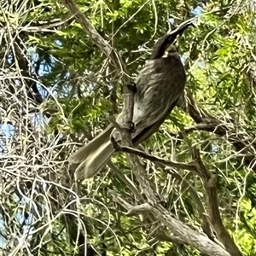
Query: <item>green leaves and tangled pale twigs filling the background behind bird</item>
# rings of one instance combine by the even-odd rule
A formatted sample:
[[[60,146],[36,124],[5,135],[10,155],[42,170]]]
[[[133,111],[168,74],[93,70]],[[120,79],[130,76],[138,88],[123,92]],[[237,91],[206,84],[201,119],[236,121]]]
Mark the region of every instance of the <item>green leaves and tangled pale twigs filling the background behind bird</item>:
[[[184,108],[176,108],[143,146],[161,158],[186,163],[194,160],[192,148],[200,148],[207,170],[218,174],[219,212],[226,230],[242,255],[255,255],[255,3],[79,0],[76,4],[119,52],[132,77],[148,59],[156,38],[197,17],[197,26],[179,39],[187,89],[201,109],[229,130],[220,136],[217,126],[212,131],[199,128],[207,119],[196,122]],[[3,255],[202,255],[171,241],[172,230],[143,215],[125,215],[112,192],[131,205],[137,204],[137,197],[113,170],[106,167],[108,172],[93,180],[74,182],[67,158],[119,112],[124,74],[61,1],[1,5]],[[237,149],[247,142],[246,154]],[[210,207],[203,179],[195,172],[164,170],[142,161],[165,208],[202,232],[196,199],[206,211]],[[138,186],[125,154],[114,154],[113,163]]]

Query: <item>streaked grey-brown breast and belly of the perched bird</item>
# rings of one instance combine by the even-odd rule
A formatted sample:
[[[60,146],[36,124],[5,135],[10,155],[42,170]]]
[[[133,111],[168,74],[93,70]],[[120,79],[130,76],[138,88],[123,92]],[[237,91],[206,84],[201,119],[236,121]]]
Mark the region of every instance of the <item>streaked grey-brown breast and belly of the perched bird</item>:
[[[137,78],[133,113],[136,131],[133,137],[137,137],[144,129],[158,123],[163,117],[166,119],[184,85],[185,73],[179,58],[162,58],[146,63]],[[164,119],[161,123],[163,121]]]

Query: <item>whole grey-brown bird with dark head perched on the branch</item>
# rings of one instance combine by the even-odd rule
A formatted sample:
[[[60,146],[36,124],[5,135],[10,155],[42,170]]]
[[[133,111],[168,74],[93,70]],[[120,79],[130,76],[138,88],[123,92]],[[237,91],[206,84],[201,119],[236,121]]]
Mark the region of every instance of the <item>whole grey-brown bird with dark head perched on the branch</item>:
[[[148,61],[135,79],[134,106],[131,133],[132,143],[137,146],[158,131],[172,109],[177,105],[179,96],[186,84],[186,73],[175,44],[177,37],[192,22],[183,22],[176,30],[165,34],[154,44]],[[166,56],[165,56],[166,55]],[[124,124],[122,112],[116,119],[117,124]],[[69,164],[76,165],[79,180],[95,177],[106,166],[115,149],[111,137],[120,137],[113,124],[79,148],[68,158]]]

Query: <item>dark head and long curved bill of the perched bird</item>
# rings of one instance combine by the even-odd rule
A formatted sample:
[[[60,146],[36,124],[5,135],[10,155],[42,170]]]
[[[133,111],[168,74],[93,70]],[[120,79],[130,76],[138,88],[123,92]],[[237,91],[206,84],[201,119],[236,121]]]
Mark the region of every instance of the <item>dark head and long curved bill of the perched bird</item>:
[[[195,25],[192,23],[192,21],[185,21],[182,25],[178,26],[177,29],[175,29],[171,33],[159,38],[156,44],[154,44],[150,59],[159,59],[163,55],[165,55],[166,52],[175,52],[175,44],[177,43],[178,36],[181,36],[189,26]]]

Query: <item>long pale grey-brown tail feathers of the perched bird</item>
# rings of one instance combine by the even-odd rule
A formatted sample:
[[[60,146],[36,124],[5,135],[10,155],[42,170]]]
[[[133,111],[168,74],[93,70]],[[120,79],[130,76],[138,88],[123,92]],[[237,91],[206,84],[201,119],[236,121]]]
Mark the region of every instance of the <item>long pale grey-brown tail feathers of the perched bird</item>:
[[[79,164],[76,169],[79,179],[94,177],[107,164],[108,159],[114,152],[109,140],[112,131],[113,125],[108,125],[90,143],[87,143],[69,157],[69,163]]]

